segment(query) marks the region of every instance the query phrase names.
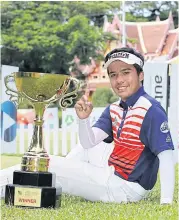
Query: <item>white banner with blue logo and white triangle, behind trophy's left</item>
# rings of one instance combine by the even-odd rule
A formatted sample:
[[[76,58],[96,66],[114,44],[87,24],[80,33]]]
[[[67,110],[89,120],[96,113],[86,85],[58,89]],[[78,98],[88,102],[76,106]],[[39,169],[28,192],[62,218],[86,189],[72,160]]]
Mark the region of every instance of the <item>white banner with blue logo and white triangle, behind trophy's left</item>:
[[[4,77],[18,71],[19,67],[2,65],[1,153],[16,153],[16,107],[9,101],[9,96],[5,93]]]

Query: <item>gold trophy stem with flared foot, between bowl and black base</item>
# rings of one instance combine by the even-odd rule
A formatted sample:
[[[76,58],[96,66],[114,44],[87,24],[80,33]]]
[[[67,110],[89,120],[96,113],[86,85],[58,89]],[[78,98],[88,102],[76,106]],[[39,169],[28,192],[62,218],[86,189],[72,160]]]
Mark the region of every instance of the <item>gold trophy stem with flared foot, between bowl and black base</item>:
[[[28,151],[22,157],[21,170],[47,172],[49,156],[44,148],[43,114],[48,106],[44,102],[33,103],[36,117],[34,131]]]

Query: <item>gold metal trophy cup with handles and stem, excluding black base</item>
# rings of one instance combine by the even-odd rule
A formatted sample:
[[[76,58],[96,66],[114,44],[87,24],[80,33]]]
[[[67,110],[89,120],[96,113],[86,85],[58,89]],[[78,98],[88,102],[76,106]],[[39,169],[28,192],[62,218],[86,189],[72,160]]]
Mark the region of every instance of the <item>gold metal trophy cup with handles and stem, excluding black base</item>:
[[[70,90],[71,82],[73,91]],[[17,90],[12,89],[9,86],[10,83],[14,83]],[[44,111],[57,100],[62,109],[69,107],[73,103],[72,100],[77,97],[79,81],[64,74],[15,72],[5,77],[5,85],[10,100],[14,97],[27,99],[35,109],[34,132],[29,149],[22,157],[21,170],[46,172],[49,166],[49,156],[43,143]]]

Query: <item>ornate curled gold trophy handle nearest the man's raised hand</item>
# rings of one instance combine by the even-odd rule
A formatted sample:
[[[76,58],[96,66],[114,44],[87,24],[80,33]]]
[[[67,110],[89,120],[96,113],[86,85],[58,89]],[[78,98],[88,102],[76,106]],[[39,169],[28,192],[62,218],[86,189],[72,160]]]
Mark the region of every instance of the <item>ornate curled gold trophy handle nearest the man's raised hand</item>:
[[[69,88],[70,81],[72,81],[74,83],[75,89],[72,92],[66,93]],[[73,77],[70,77],[68,85],[63,90],[64,93],[66,93],[66,94],[64,94],[62,96],[62,98],[59,100],[60,108],[62,108],[64,110],[73,103],[73,99],[75,99],[77,97],[77,92],[78,92],[79,88],[80,88],[79,80],[77,80]]]

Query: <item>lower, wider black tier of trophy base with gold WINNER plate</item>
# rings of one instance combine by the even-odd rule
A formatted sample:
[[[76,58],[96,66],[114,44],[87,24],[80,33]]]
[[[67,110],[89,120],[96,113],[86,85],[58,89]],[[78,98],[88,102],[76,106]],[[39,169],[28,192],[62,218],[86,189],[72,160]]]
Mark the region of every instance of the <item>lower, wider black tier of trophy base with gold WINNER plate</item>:
[[[6,185],[5,204],[27,208],[57,208],[61,206],[61,194],[55,187]]]

